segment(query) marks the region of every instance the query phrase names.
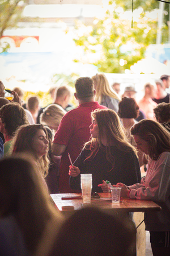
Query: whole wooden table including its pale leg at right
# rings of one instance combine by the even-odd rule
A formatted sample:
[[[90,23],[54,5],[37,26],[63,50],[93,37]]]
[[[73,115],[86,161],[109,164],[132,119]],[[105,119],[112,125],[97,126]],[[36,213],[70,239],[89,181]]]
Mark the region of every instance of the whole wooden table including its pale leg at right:
[[[134,213],[134,221],[137,228],[137,255],[144,256],[145,253],[145,225],[143,222],[143,213],[142,212],[152,212],[160,211],[161,207],[155,204],[153,201],[149,200],[134,200],[134,199],[123,199],[121,198],[120,204],[112,204],[111,193],[99,193],[100,200],[92,199],[91,205],[97,205],[104,212],[109,214],[114,214],[118,212],[121,214],[121,217],[127,217],[127,212],[136,212]],[[56,204],[56,208],[60,213],[65,217],[71,216],[75,210],[81,209],[83,207],[82,199],[69,199],[62,200],[62,197],[69,196],[82,196],[82,194],[70,193],[70,194],[52,194],[50,195],[53,199],[53,202]],[[108,200],[104,200],[108,199]]]

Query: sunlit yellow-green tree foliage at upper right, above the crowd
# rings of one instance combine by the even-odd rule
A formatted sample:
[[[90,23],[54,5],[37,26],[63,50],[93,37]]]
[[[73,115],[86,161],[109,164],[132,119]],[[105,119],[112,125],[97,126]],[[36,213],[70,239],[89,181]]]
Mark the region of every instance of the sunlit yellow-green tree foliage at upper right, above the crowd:
[[[79,20],[76,22],[74,41],[83,49],[83,56],[75,61],[90,62],[100,72],[124,73],[145,57],[148,45],[156,43],[158,20],[151,12],[159,7],[159,3],[134,1],[133,28],[131,1],[110,3],[112,9],[107,10],[103,18],[95,19],[93,26],[84,26]]]

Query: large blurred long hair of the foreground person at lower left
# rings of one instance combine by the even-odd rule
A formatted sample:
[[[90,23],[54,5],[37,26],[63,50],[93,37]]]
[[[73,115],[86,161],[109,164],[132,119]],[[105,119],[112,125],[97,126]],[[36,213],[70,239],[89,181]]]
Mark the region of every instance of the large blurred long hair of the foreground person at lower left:
[[[28,156],[0,161],[1,217],[12,214],[24,236],[31,255],[40,242],[46,223],[52,216],[48,191],[42,177]]]

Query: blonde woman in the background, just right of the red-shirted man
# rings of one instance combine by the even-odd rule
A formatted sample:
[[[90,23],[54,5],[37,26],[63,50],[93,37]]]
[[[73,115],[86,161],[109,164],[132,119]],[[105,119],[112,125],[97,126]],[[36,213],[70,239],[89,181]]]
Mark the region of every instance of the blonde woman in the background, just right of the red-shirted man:
[[[120,97],[111,88],[106,76],[97,73],[92,77],[92,80],[94,80],[95,84],[96,101],[98,101],[100,105],[107,106],[107,108],[112,109],[117,113]]]

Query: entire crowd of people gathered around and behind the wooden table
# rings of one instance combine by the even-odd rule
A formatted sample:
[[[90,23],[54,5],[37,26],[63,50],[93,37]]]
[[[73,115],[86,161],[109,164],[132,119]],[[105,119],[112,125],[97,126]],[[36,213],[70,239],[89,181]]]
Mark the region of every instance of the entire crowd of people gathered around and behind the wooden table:
[[[136,101],[134,86],[120,97],[121,84],[110,86],[99,73],[75,81],[76,108],[67,85],[53,88],[53,103],[40,108],[37,96],[24,103],[20,88],[7,100],[0,81],[2,256],[136,255],[130,218],[85,208],[65,220],[54,208],[49,194],[80,192],[80,174],[88,173],[93,192],[109,192],[109,180],[122,188],[123,197],[159,204],[160,212],[145,216],[146,230],[153,255],[170,255],[169,86],[170,76],[163,75],[145,84],[143,98]],[[103,225],[109,231],[102,230],[102,242],[97,234]]]

